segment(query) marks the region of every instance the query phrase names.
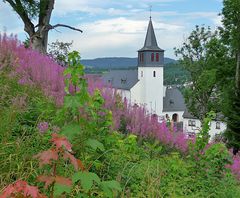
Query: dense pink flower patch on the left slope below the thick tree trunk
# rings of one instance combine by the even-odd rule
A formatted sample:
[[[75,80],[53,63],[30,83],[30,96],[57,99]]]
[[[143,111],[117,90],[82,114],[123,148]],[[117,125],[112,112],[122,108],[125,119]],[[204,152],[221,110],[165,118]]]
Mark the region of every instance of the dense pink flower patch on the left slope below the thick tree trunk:
[[[63,68],[48,56],[25,47],[14,36],[0,35],[0,70],[12,68],[20,84],[33,84],[58,105],[63,103]]]

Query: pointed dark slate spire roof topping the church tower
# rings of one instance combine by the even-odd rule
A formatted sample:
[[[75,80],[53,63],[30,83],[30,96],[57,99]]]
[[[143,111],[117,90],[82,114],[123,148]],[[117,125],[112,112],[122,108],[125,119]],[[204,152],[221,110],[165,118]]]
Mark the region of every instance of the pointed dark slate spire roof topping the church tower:
[[[139,51],[148,51],[148,50],[150,50],[150,51],[164,51],[164,50],[162,50],[161,48],[158,47],[151,18],[149,20],[147,35],[146,35],[146,38],[145,38],[144,46]]]

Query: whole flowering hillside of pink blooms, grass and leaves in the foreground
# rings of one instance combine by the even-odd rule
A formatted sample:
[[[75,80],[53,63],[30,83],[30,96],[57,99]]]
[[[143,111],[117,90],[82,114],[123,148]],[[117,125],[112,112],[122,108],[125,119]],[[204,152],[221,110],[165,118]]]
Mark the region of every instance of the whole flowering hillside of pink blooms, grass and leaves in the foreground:
[[[186,139],[86,81],[78,60],[63,70],[0,37],[1,198],[240,195],[240,158],[208,144],[206,127]]]

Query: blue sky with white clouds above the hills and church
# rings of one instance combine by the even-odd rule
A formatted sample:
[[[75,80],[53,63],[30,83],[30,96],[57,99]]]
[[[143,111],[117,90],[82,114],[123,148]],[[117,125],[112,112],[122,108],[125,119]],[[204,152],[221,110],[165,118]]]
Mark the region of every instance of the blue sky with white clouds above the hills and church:
[[[83,59],[136,57],[145,40],[152,7],[157,42],[165,57],[174,58],[174,47],[181,47],[196,25],[215,29],[221,25],[221,0],[56,0],[51,24],[67,24],[83,33],[66,28],[49,32],[49,43],[73,41],[72,50]],[[0,1],[0,32],[27,38],[21,19]]]

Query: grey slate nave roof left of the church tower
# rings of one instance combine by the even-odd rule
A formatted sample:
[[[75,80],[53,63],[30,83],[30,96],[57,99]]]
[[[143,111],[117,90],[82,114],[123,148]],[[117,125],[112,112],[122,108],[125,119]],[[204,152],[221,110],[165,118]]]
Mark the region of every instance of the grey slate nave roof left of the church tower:
[[[102,76],[105,84],[117,89],[130,90],[138,82],[137,70],[112,70]]]

